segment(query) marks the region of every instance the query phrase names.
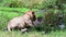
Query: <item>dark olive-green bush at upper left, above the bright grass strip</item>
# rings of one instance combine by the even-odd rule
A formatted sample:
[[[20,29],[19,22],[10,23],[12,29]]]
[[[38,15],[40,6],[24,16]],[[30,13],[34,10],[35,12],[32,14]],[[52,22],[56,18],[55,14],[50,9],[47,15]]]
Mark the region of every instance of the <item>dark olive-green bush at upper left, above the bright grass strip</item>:
[[[15,1],[8,2],[4,5],[9,8],[22,8],[23,3],[21,1],[15,0]]]

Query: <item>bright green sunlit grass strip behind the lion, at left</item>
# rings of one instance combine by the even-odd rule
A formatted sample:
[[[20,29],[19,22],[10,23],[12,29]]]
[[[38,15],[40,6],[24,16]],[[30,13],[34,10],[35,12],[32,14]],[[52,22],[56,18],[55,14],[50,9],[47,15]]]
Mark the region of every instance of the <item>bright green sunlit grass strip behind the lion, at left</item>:
[[[4,7],[0,7],[0,11],[14,11],[14,12],[25,12],[29,11],[30,9],[26,8],[4,8]],[[37,9],[32,9],[32,11],[37,11]]]

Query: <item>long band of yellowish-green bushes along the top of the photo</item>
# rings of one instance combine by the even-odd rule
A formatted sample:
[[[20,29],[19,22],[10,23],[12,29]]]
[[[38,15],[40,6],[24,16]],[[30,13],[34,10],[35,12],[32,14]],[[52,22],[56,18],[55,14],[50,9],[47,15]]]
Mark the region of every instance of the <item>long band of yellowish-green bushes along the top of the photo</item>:
[[[6,0],[4,0],[6,1]],[[55,5],[56,0],[8,0],[3,3],[10,8],[44,9],[48,5]],[[1,4],[2,5],[2,4]]]

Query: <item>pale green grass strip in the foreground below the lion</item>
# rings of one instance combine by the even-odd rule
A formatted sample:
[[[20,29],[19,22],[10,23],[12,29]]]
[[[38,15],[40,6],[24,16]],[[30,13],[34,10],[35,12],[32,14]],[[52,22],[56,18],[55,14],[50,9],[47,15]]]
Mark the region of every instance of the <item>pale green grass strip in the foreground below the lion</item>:
[[[51,34],[43,34],[42,32],[29,32],[22,34],[21,32],[1,32],[0,37],[66,37],[66,32],[53,32]]]

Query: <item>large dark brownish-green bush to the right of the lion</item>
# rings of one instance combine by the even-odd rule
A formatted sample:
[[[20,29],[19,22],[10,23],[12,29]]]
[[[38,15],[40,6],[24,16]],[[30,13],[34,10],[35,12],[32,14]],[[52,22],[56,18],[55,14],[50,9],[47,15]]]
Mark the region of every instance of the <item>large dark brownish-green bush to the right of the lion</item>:
[[[45,13],[44,13],[44,17],[43,17],[43,26],[44,29],[46,32],[48,30],[55,30],[58,27],[58,23],[59,23],[59,15],[63,16],[63,12],[61,12],[57,9],[48,9]],[[63,18],[62,18],[63,20]]]

